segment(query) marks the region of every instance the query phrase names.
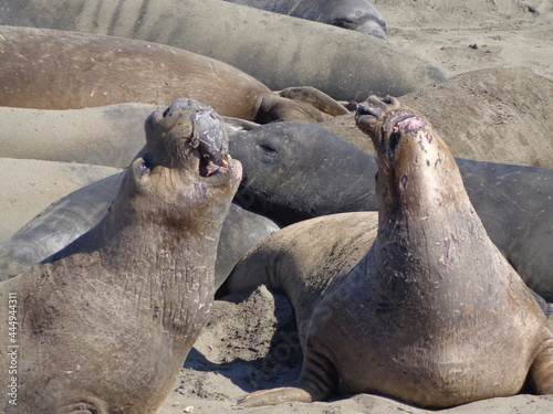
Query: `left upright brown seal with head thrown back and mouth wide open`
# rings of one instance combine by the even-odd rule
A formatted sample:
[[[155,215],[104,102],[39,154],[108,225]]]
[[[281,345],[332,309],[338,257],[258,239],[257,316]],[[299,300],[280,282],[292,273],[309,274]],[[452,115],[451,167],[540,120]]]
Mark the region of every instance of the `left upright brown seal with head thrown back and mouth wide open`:
[[[98,225],[1,284],[19,305],[20,344],[18,405],[4,412],[156,413],[169,394],[208,319],[241,166],[226,161],[220,118],[194,100],[152,114],[146,142]]]

